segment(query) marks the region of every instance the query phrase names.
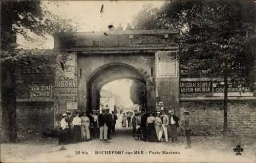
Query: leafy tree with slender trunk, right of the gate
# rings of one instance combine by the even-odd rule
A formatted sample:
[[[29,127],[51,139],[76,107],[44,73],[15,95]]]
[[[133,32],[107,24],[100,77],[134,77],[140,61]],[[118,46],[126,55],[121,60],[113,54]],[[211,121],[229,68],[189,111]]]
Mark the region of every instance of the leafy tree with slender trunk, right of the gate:
[[[170,1],[160,9],[143,9],[134,21],[137,29],[180,29],[177,57],[183,73],[224,79],[224,133],[228,78],[255,86],[255,13],[253,1]]]

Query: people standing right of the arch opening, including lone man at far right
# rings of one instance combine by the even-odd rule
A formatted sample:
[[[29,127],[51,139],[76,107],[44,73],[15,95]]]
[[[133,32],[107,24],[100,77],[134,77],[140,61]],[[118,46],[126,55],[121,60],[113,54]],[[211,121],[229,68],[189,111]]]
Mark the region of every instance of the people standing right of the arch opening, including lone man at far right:
[[[162,138],[165,138],[166,142],[172,141],[172,143],[178,142],[178,130],[180,127],[180,118],[174,114],[173,110],[157,111],[157,112],[138,112],[134,111],[135,115],[132,118],[133,138],[141,139],[148,142],[161,142]],[[186,134],[187,146],[191,148],[191,120],[189,118],[189,112],[185,111],[186,115],[184,130]]]

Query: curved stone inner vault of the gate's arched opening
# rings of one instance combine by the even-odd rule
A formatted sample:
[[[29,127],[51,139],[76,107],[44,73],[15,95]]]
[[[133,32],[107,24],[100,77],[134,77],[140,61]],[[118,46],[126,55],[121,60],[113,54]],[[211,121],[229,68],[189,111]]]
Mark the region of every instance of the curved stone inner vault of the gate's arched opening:
[[[109,63],[97,68],[90,76],[87,85],[87,106],[90,110],[99,109],[100,90],[118,79],[134,79],[146,85],[146,78],[135,67],[125,63]],[[120,88],[121,89],[121,88]]]

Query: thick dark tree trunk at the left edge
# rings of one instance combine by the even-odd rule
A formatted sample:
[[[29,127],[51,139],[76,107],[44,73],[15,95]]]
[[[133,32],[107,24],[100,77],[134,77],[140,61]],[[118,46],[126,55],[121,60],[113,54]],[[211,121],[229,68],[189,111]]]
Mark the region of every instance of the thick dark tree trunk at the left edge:
[[[3,127],[4,141],[17,143],[16,128],[16,71],[15,67],[4,66],[2,68],[2,109],[3,109]]]

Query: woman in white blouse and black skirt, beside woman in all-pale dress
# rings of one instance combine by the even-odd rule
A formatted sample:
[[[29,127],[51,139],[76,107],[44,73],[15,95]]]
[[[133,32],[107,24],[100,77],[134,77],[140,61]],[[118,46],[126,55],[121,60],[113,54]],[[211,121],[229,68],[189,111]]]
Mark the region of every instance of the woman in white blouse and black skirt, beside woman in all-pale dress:
[[[79,113],[76,112],[76,117],[73,118],[72,125],[73,128],[73,143],[81,142],[81,118],[79,117]]]

